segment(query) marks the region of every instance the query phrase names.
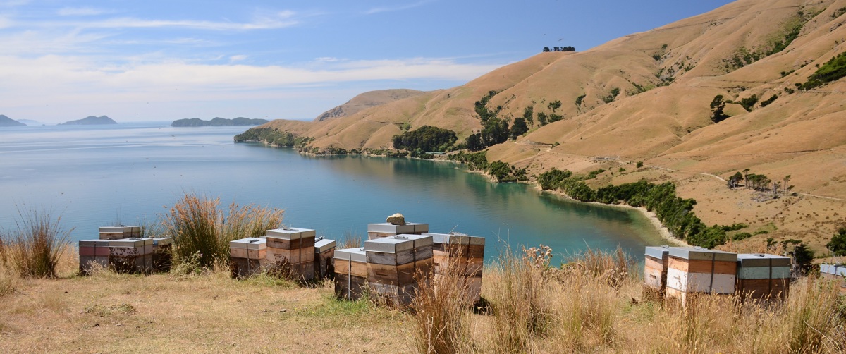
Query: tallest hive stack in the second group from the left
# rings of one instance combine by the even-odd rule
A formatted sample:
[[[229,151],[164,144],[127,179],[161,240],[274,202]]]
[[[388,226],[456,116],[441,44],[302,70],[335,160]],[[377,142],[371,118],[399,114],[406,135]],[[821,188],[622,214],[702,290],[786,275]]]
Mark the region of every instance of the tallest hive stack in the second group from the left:
[[[302,280],[315,276],[315,230],[285,228],[267,230],[267,261],[290,267],[291,275]]]

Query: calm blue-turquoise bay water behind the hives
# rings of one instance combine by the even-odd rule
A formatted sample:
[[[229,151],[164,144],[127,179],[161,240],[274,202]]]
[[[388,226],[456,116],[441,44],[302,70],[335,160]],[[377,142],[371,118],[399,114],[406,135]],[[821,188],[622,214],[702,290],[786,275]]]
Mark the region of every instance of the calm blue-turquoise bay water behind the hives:
[[[493,184],[454,163],[356,156],[310,158],[290,149],[233,143],[244,127],[173,128],[168,123],[37,126],[0,130],[0,228],[18,210],[61,214],[74,241],[97,227],[152,223],[186,191],[285,209],[289,226],[337,239],[404,213],[503,245],[544,244],[560,253],[618,245],[636,257],[660,238],[640,213]]]

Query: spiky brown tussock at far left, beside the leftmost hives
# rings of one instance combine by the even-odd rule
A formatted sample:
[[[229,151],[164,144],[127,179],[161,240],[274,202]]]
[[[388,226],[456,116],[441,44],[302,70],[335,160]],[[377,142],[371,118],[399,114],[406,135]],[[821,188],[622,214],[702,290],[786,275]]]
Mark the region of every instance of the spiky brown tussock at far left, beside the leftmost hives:
[[[55,278],[73,230],[63,230],[61,220],[53,219],[46,210],[19,211],[17,229],[3,242],[4,263],[23,277]]]

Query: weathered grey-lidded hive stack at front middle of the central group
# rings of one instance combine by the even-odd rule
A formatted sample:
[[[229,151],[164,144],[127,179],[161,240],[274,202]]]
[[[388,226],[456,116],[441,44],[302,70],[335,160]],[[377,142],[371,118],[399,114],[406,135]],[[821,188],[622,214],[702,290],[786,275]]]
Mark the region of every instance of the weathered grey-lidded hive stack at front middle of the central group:
[[[432,237],[394,235],[365,241],[365,255],[371,297],[409,306],[420,277],[431,274]]]

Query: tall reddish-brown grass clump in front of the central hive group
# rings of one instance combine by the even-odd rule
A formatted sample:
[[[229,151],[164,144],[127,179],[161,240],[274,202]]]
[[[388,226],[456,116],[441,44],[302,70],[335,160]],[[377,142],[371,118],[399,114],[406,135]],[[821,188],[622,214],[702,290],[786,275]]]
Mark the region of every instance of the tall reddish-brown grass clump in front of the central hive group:
[[[415,345],[421,353],[457,353],[473,350],[470,340],[470,289],[464,281],[460,255],[452,257],[439,274],[417,274],[420,288],[415,312]]]

